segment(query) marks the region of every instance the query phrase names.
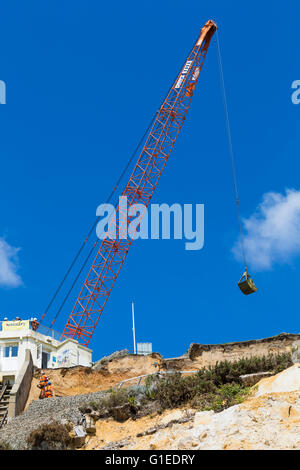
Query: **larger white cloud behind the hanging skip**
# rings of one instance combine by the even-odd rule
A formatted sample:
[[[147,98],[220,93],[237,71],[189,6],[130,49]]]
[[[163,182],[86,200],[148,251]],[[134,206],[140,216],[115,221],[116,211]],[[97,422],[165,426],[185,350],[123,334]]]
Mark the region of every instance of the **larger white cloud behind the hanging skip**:
[[[245,251],[250,268],[270,270],[300,255],[300,191],[264,194],[255,213],[243,219]],[[241,245],[233,253],[241,259]]]

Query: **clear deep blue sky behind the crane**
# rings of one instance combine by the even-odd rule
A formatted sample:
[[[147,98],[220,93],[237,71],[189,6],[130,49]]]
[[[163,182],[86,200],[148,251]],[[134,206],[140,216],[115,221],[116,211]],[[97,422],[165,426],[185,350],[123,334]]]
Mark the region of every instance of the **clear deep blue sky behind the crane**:
[[[210,18],[219,26],[243,217],[266,193],[300,190],[300,105],[291,101],[300,79],[299,13],[296,1],[1,6],[0,237],[22,280],[1,288],[3,317],[42,314]],[[290,230],[276,239],[275,224],[277,255],[286,243],[292,248],[275,253],[267,269],[252,253],[257,294],[245,297],[236,286],[243,266],[232,253],[238,223],[214,42],[152,202],[205,204],[204,248],[186,251],[181,240],[133,244],[90,343],[95,359],[132,349],[132,299],[137,340],[166,357],[192,342],[300,331],[297,226],[291,241]]]

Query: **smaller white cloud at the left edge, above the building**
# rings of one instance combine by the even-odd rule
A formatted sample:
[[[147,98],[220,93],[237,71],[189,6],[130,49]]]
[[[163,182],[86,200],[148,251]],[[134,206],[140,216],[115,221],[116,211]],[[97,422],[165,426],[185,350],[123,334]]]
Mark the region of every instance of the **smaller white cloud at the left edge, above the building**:
[[[20,248],[9,245],[4,238],[0,238],[0,286],[19,287],[23,284],[17,274],[19,262],[18,252]]]

